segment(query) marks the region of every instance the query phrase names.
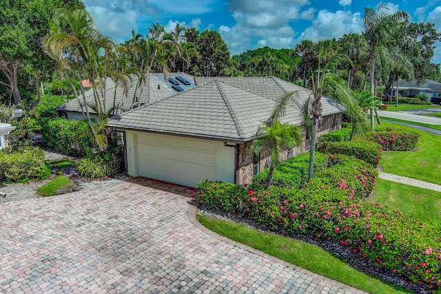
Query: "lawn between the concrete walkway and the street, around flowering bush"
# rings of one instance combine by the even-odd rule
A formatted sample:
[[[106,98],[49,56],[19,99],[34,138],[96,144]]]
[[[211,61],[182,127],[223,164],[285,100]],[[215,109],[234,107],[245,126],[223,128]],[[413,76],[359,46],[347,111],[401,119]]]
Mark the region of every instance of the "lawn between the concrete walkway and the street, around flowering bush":
[[[380,165],[384,172],[434,182],[441,185],[441,136],[419,131],[404,125],[383,122],[403,129],[412,129],[420,134],[417,151],[385,151]]]

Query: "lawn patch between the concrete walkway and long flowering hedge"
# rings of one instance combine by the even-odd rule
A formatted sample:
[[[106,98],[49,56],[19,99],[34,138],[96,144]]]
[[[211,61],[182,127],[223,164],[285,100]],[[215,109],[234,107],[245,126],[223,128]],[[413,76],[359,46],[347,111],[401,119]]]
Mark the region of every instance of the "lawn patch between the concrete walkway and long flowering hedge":
[[[441,220],[441,192],[378,179],[369,201],[377,202],[423,222]]]

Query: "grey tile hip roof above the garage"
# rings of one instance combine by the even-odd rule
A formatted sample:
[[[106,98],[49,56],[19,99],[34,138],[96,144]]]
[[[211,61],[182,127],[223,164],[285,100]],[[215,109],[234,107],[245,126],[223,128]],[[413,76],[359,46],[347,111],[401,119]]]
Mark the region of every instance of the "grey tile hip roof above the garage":
[[[277,98],[293,91],[298,91],[294,94],[298,103],[289,103],[283,121],[300,125],[302,102],[311,94],[278,78],[195,77],[194,81],[200,86],[115,116],[107,126],[244,142],[252,140],[269,118]],[[327,97],[322,105],[324,116],[343,110]]]

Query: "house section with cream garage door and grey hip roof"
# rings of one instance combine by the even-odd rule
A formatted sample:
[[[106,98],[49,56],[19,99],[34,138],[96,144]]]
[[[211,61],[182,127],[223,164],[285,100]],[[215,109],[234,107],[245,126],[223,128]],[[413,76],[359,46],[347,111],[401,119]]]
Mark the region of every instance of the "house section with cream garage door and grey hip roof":
[[[275,77],[193,77],[194,87],[114,116],[107,127],[123,133],[130,176],[194,187],[200,180],[249,184],[269,165],[268,151],[249,151],[277,99],[295,92],[283,122],[300,125],[311,91]],[[322,97],[319,134],[339,129],[344,107]],[[307,151],[306,136],[283,159]]]

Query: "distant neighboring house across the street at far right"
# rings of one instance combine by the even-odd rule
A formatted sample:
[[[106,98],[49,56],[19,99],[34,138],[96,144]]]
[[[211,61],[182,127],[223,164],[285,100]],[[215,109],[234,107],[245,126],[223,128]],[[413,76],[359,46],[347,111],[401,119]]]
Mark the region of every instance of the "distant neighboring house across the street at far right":
[[[397,82],[393,83],[391,95],[396,96]],[[402,81],[398,84],[398,94],[402,97],[415,97],[418,94],[427,94],[428,101],[432,98],[441,98],[441,83],[427,80],[424,83],[417,81]]]

